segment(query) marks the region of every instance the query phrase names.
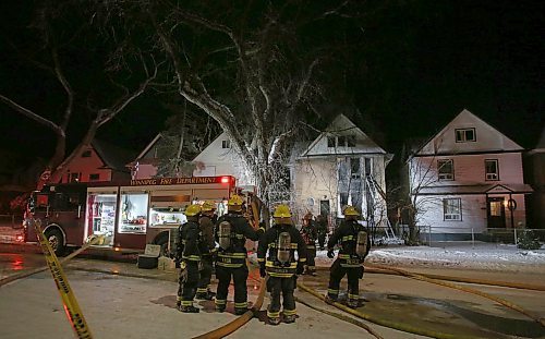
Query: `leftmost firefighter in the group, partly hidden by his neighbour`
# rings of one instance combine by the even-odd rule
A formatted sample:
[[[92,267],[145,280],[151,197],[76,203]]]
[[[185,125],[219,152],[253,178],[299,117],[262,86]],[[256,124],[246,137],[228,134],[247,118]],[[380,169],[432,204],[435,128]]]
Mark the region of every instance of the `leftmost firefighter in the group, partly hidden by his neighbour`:
[[[203,241],[206,244],[206,252],[201,255],[201,270],[197,286],[196,299],[213,300],[214,293],[210,291],[210,280],[213,271],[213,256],[216,252],[216,241],[214,240],[214,222],[216,203],[206,201],[202,206],[202,215],[198,219],[201,232],[203,233]]]

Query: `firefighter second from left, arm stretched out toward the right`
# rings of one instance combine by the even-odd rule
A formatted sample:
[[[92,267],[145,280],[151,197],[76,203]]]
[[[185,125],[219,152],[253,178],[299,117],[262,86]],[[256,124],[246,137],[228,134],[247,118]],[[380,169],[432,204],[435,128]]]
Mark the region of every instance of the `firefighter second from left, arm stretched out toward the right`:
[[[227,204],[227,215],[216,222],[216,239],[219,243],[216,259],[216,310],[223,312],[227,306],[228,288],[231,277],[234,283],[234,313],[242,315],[247,311],[247,265],[246,238],[257,241],[265,232],[263,228],[254,230],[242,216],[242,198],[233,195]]]

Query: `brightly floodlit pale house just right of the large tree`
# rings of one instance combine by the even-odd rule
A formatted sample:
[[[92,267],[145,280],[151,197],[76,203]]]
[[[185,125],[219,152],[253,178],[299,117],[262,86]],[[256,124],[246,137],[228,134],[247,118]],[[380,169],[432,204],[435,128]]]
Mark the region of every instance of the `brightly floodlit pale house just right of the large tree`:
[[[292,169],[298,214],[323,215],[335,223],[342,207],[356,207],[363,218],[386,223],[385,170],[392,156],[344,114],[339,114],[296,157]]]

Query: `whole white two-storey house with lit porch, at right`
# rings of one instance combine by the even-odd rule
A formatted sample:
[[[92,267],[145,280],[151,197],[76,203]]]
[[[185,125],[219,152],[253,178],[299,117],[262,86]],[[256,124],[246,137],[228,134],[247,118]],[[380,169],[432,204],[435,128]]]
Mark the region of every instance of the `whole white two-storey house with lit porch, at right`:
[[[523,150],[462,110],[407,160],[416,223],[438,240],[524,227]]]

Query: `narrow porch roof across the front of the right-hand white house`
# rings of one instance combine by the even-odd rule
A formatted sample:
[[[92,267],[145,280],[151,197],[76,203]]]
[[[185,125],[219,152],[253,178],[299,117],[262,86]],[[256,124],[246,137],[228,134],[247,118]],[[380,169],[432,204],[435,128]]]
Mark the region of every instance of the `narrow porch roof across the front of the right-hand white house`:
[[[525,183],[491,183],[479,185],[441,185],[420,187],[417,195],[459,195],[459,194],[529,194],[534,192]]]

